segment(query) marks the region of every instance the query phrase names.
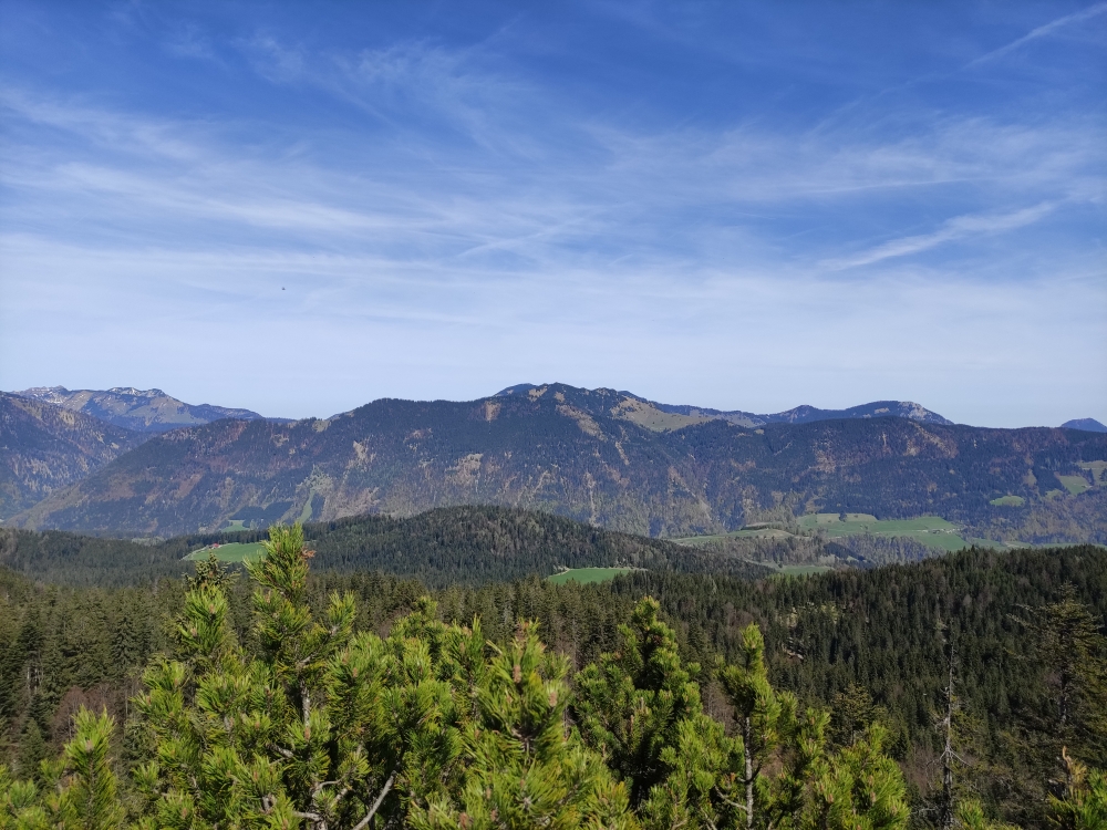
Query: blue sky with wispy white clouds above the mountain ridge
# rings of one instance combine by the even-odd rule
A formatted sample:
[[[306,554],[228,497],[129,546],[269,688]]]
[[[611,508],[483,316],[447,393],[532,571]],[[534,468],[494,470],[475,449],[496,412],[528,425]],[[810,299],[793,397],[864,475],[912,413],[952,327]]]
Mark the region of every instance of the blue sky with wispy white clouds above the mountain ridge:
[[[0,388],[1107,421],[1107,3],[0,2]]]

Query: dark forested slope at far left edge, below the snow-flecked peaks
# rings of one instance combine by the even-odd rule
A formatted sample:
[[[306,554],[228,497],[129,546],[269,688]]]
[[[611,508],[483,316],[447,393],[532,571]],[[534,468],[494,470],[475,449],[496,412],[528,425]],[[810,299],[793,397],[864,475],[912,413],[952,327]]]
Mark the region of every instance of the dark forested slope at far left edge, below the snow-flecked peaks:
[[[0,520],[79,481],[145,436],[0,392]]]

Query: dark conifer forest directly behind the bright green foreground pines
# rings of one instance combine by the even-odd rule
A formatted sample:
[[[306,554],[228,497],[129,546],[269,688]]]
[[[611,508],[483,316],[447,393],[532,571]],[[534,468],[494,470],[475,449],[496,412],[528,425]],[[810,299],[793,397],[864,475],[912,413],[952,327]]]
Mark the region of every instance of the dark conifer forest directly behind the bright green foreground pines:
[[[162,580],[144,588],[65,589],[35,584],[10,571],[0,574],[0,715],[6,718],[8,739],[4,755],[14,769],[33,774],[39,758],[51,755],[71,737],[70,715],[82,704],[95,708],[106,705],[120,724],[128,716],[134,719],[134,706],[128,706],[126,698],[141,688],[139,671],[156,652],[179,653],[182,647],[175,644],[168,621],[182,613],[185,587],[180,580]],[[257,627],[261,623],[250,610],[252,589],[245,579],[229,584],[228,631],[235,632],[248,653],[267,658],[266,654],[272,655],[280,646],[277,641],[267,641],[263,625]],[[430,631],[425,626],[431,618],[465,625],[476,618],[483,637],[497,643],[500,653],[517,655],[513,658],[524,661],[518,665],[526,665],[526,660],[538,661],[535,671],[539,671],[539,664],[548,665],[541,662],[545,658],[532,649],[528,652],[510,642],[520,621],[537,620],[541,640],[570,663],[567,679],[571,684],[558,692],[562,708],[565,696],[569,698],[565,717],[580,725],[591,736],[589,740],[600,743],[607,739],[602,738],[607,733],[588,718],[596,715],[597,707],[601,712],[607,710],[604,707],[619,708],[603,692],[609,687],[601,679],[606,672],[627,671],[618,660],[615,665],[604,662],[601,655],[628,653],[618,626],[634,618],[640,598],[652,595],[659,601],[660,620],[672,627],[680,665],[685,666],[680,671],[687,671],[687,682],[696,687],[696,710],[731,736],[738,734],[742,720],[735,720],[735,687],[733,683],[727,686],[727,675],[718,673],[716,660],[746,665],[751,647],[746,626],[756,623],[764,635],[767,678],[773,686],[778,692],[794,693],[800,710],[811,706],[829,708],[820,744],[828,759],[835,753],[846,753],[863,736],[873,735],[872,724],[879,726],[886,735],[881,751],[889,753],[903,771],[912,820],[919,827],[941,823],[938,781],[945,738],[941,720],[951,655],[955,707],[950,740],[961,759],[952,768],[955,799],[979,798],[985,812],[1017,821],[1022,827],[1054,827],[1047,818],[1049,788],[1056,795],[1075,786],[1058,764],[1062,746],[1075,761],[1107,766],[1107,653],[1103,640],[1107,551],[1100,548],[1010,553],[972,550],[910,566],[759,582],[635,572],[607,585],[552,585],[537,579],[478,588],[453,585],[431,592],[436,603],[433,611],[420,600],[425,589],[415,580],[331,571],[311,578],[304,598],[321,616],[327,613],[328,598],[335,592],[352,594],[356,631],[386,636],[395,634],[399,624],[401,633],[407,632],[403,636],[422,642],[420,637],[426,634],[416,632]],[[193,613],[203,616],[208,614],[207,608],[203,603],[194,605]],[[412,612],[425,622],[397,622]],[[428,613],[431,618],[418,618]],[[634,619],[641,623],[641,616]],[[650,624],[646,629],[663,635],[662,630],[651,629]],[[387,642],[400,647],[399,641]],[[442,647],[435,642],[432,636],[426,653],[432,662],[427,665],[435,665],[433,655]],[[392,646],[381,647],[383,655]],[[417,654],[410,655],[415,662],[405,672],[423,671],[417,666],[424,657]],[[676,671],[676,664],[666,661],[664,671]],[[589,664],[600,668],[572,679]],[[510,679],[519,671],[508,661],[503,676]],[[541,671],[546,670],[539,674]],[[618,676],[612,675],[615,679]],[[521,683],[521,677],[513,682]],[[554,684],[542,687],[542,695],[548,696],[550,689],[559,687],[547,679]],[[634,683],[645,681],[640,677]],[[583,694],[581,702],[581,689],[586,688],[591,691]],[[761,688],[767,694],[765,687]],[[682,699],[687,703],[686,696]],[[401,699],[395,703],[397,710],[405,705]],[[556,708],[555,703],[547,704],[550,710]],[[628,699],[627,705],[628,713],[632,713],[638,704]],[[642,715],[640,719],[648,718]],[[604,723],[610,726],[613,722]],[[704,724],[701,732],[707,734],[713,728]],[[630,733],[607,732],[631,739]],[[682,739],[677,733],[668,732],[668,737],[660,739],[674,741],[675,750]],[[116,744],[114,757],[121,767],[147,751],[141,734],[137,724],[116,730],[115,740],[122,743]],[[706,751],[701,744],[685,745],[683,755],[666,756],[670,766],[661,767],[669,771],[658,772],[661,778],[672,784],[665,776],[680,768],[681,757],[701,765],[700,772],[715,768],[712,765],[725,766],[722,756],[710,751],[695,755],[693,749]],[[609,750],[614,751],[611,747]],[[473,757],[474,769],[484,762],[482,757],[488,760]],[[711,760],[713,757],[715,760]],[[766,769],[775,769],[775,761],[765,758]],[[272,762],[284,764],[279,754]],[[840,756],[838,762],[844,770],[848,766],[846,756]],[[630,769],[615,768],[612,775],[632,784],[635,779]],[[1070,766],[1069,770],[1078,768]],[[814,776],[814,768],[804,775]],[[386,770],[376,780],[374,792],[383,788],[385,778]],[[492,782],[489,779],[486,784],[490,787]],[[631,792],[631,798],[637,796]],[[456,826],[457,815],[453,818]],[[694,821],[686,826],[706,827]],[[1061,826],[1099,827],[1074,822]]]

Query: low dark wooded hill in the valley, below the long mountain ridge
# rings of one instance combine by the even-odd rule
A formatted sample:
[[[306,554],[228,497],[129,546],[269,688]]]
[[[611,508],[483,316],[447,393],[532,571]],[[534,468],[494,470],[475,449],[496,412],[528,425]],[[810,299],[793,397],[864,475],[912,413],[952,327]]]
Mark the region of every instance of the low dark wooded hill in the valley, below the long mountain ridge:
[[[500,507],[451,507],[405,519],[359,516],[304,526],[317,571],[383,571],[431,588],[479,585],[565,568],[648,568],[758,577],[736,551],[692,550],[590,527],[561,516]],[[69,585],[148,584],[190,572],[184,558],[213,543],[256,542],[268,531],[196,535],[147,543],[63,531],[0,529],[0,566]]]

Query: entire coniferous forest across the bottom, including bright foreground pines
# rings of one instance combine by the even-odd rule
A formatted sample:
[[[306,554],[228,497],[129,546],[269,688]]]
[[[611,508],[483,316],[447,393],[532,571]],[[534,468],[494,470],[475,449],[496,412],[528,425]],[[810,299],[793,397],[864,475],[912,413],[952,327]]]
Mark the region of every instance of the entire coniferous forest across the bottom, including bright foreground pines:
[[[1100,548],[431,589],[267,551],[0,570],[0,826],[1107,821]]]

